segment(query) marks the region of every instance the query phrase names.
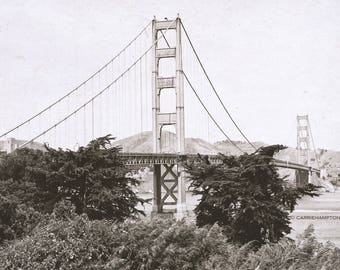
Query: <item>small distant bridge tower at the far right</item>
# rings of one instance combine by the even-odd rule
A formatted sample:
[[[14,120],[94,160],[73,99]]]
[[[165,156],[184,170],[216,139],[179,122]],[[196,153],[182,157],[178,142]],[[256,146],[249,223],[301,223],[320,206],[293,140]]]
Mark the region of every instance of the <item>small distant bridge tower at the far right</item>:
[[[300,164],[311,166],[310,164],[310,126],[308,115],[298,115],[297,122],[297,161]],[[298,185],[311,182],[311,171],[305,175],[302,171],[297,171],[296,180]]]

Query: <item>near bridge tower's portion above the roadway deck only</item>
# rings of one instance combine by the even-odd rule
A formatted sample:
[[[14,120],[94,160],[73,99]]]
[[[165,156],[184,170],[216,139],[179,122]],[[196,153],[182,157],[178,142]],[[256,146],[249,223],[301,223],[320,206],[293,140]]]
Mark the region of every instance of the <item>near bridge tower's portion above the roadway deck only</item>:
[[[175,46],[171,46],[166,39],[167,31],[176,32]],[[165,39],[166,47],[160,45],[159,35]],[[162,129],[164,126],[173,125],[176,130],[176,152],[184,154],[184,86],[182,72],[182,41],[181,41],[181,20],[177,17],[174,20],[152,21],[152,130],[153,130],[153,152],[161,153],[162,150]],[[160,76],[160,61],[162,59],[174,59],[176,70],[175,76]],[[170,89],[176,94],[176,108],[172,112],[161,112],[161,94],[163,89]]]

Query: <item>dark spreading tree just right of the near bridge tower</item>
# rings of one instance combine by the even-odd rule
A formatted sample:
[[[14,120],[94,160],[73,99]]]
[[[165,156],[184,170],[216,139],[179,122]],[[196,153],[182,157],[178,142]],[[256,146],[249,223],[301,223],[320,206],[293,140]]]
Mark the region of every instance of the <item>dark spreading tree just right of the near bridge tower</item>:
[[[316,186],[292,187],[280,177],[273,155],[286,147],[262,147],[253,154],[220,155],[222,164],[201,157],[186,165],[191,188],[201,200],[195,208],[198,226],[218,223],[230,239],[246,243],[277,242],[291,231],[288,217],[297,200],[316,196]]]

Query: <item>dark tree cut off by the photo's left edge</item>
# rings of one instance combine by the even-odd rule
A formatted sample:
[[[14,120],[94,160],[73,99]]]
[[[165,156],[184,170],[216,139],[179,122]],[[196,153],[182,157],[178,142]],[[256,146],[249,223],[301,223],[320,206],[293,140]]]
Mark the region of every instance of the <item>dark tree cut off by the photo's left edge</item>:
[[[43,220],[32,208],[38,190],[26,177],[26,168],[38,163],[42,154],[25,148],[0,157],[0,244],[27,235]]]

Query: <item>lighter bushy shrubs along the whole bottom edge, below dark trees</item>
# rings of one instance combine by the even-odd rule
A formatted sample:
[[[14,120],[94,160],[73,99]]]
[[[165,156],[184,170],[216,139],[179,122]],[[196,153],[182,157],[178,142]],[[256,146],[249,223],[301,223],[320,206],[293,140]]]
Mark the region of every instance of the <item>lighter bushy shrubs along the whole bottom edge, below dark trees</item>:
[[[229,242],[217,224],[198,228],[154,219],[115,223],[78,215],[58,203],[34,233],[0,250],[1,269],[232,270],[339,269],[340,250],[320,244],[312,229],[295,243],[282,239],[254,251]]]

